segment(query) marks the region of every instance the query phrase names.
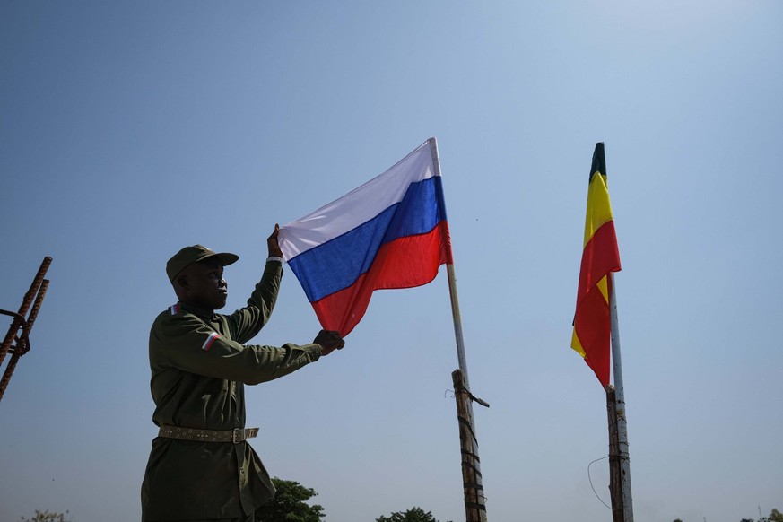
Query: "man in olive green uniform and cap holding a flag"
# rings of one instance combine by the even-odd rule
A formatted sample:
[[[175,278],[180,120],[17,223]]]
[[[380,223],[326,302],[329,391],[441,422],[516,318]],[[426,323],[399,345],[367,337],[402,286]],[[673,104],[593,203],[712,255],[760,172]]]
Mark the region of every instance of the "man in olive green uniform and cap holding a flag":
[[[246,439],[245,384],[280,378],[340,349],[336,332],[312,344],[249,345],[274,308],[283,276],[278,226],[266,240],[269,257],[248,306],[216,314],[228,295],[223,266],[239,257],[200,245],[171,257],[166,273],[178,303],[150,332],[153,422],[160,427],[142,484],[143,522],[258,522],[256,510],[274,496],[264,465]]]

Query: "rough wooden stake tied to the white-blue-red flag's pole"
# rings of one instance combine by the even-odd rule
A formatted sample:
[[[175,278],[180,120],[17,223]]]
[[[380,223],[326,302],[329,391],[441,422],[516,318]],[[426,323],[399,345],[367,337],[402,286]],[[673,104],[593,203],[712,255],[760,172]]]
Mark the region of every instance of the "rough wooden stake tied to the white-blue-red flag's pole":
[[[459,424],[459,447],[462,453],[462,483],[465,490],[466,522],[486,522],[487,508],[484,503],[482,472],[478,456],[478,440],[473,431],[472,396],[465,387],[462,370],[451,373],[454,383],[454,398],[457,401]]]

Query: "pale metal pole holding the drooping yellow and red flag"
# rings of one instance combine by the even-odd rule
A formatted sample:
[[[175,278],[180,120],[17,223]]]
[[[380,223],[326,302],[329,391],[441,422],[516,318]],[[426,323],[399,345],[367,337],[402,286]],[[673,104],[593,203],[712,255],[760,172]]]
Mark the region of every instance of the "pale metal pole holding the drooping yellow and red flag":
[[[614,373],[614,396],[617,410],[617,435],[620,446],[620,482],[622,491],[622,518],[633,522],[631,500],[631,457],[628,453],[628,421],[625,418],[625,388],[622,385],[622,359],[620,356],[620,326],[617,320],[617,295],[614,290],[614,273],[609,273],[609,314],[612,329],[612,363]]]

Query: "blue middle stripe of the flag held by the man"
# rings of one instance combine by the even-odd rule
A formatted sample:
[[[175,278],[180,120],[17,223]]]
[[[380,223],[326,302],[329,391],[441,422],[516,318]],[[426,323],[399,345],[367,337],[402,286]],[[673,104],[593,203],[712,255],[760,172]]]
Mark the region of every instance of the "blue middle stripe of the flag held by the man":
[[[288,265],[308,300],[315,302],[348,288],[370,270],[381,246],[430,232],[441,221],[446,221],[446,204],[440,177],[434,176],[412,183],[399,203],[352,231],[302,252]]]

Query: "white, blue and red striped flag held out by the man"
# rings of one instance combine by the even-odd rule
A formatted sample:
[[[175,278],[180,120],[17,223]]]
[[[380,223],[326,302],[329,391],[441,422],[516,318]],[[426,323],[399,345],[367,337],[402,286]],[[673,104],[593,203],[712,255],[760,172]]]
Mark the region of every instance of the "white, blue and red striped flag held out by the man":
[[[283,256],[326,330],[348,335],[373,291],[430,283],[453,264],[435,138],[377,178],[284,225]]]

